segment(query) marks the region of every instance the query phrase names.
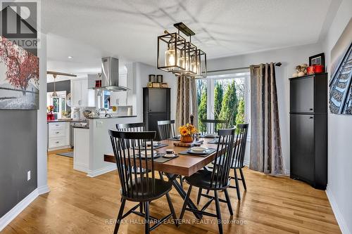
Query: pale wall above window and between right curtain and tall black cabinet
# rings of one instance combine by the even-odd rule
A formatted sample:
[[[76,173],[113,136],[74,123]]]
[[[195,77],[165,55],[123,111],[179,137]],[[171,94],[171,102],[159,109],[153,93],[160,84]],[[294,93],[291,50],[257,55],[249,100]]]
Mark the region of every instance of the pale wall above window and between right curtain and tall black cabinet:
[[[281,62],[276,67],[277,99],[279,103],[279,119],[282,136],[282,153],[287,174],[289,173],[289,78],[296,65],[308,63],[309,56],[322,52],[320,44],[295,46],[241,56],[218,58],[208,61],[208,70],[220,70],[234,67],[248,67],[260,63]],[[249,161],[249,154],[246,154]]]

